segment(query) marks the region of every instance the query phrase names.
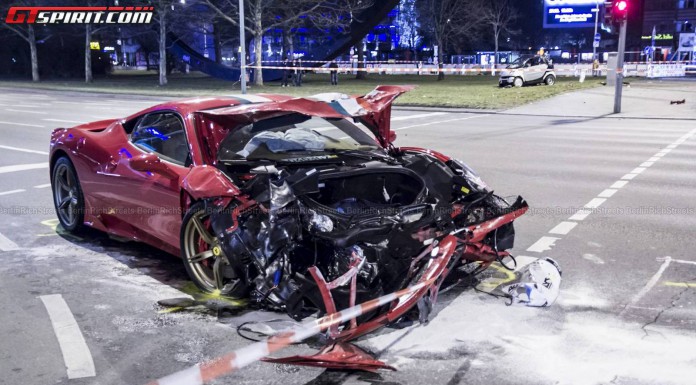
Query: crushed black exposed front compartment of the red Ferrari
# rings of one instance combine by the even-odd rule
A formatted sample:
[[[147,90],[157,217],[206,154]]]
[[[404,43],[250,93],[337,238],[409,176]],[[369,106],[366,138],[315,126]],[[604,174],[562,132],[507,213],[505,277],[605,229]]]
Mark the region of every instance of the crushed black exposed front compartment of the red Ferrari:
[[[415,150],[218,167],[253,202],[213,206],[210,214],[227,260],[221,292],[295,319],[404,288],[432,258],[424,250],[444,234],[465,235],[470,226],[525,206],[521,198],[510,205],[494,195],[463,163]],[[513,240],[510,222],[483,244],[497,254]],[[472,273],[475,262],[463,255],[451,268]]]

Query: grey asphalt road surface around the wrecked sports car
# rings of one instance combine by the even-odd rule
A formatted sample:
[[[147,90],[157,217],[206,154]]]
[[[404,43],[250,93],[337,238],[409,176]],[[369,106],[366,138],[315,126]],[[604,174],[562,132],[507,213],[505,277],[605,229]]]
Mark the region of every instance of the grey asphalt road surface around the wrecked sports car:
[[[693,95],[693,84],[671,87]],[[1,384],[145,384],[249,344],[236,331],[245,320],[282,319],[166,312],[158,300],[192,293],[178,259],[56,228],[51,130],[126,116],[157,98],[1,91]],[[561,264],[563,287],[552,307],[506,306],[459,288],[441,296],[427,326],[385,329],[359,342],[396,372],[256,363],[216,383],[694,383],[696,110],[693,100],[670,106],[664,89],[625,95],[640,107],[619,117],[583,109],[608,100],[606,90],[502,114],[394,112],[398,145],[463,159],[496,192],[529,201],[514,251]],[[509,276],[492,269],[482,278],[479,287],[490,290]],[[68,314],[60,313],[65,305]],[[61,351],[81,338],[86,356],[85,349]]]

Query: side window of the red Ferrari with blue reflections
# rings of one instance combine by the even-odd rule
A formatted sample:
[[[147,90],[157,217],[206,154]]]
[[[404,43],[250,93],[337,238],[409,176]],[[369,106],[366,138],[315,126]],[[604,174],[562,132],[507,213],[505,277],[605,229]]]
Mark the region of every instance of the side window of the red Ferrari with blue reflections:
[[[162,159],[186,165],[189,163],[189,147],[184,123],[172,112],[146,115],[131,133],[131,142],[147,152],[155,152]]]

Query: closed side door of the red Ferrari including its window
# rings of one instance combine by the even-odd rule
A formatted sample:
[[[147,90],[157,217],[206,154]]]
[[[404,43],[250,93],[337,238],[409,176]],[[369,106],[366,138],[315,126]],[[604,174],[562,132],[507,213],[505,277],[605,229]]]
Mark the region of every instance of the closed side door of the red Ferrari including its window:
[[[160,167],[134,166],[135,160],[153,155],[159,159]],[[144,241],[179,248],[179,186],[190,164],[184,120],[178,113],[158,111],[139,118],[127,145],[120,150],[114,170],[120,178],[118,186],[114,186],[118,190],[114,196],[122,210],[117,216],[144,233]]]

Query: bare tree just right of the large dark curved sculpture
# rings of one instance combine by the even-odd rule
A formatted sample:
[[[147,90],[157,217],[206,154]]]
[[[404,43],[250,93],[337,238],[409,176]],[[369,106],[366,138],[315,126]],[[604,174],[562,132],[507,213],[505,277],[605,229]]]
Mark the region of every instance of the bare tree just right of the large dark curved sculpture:
[[[477,31],[482,24],[483,0],[421,0],[419,13],[422,25],[438,45],[437,61],[442,69],[444,50],[455,38]],[[438,80],[445,73],[438,71]]]

